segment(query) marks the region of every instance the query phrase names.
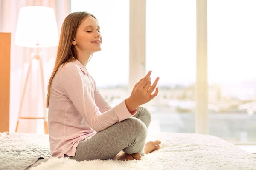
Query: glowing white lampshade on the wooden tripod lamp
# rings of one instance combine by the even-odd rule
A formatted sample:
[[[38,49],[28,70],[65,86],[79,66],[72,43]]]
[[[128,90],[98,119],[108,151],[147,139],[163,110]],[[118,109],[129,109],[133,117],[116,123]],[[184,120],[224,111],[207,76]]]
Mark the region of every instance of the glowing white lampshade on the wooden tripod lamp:
[[[22,47],[58,46],[58,27],[53,8],[26,6],[20,8],[15,45]]]

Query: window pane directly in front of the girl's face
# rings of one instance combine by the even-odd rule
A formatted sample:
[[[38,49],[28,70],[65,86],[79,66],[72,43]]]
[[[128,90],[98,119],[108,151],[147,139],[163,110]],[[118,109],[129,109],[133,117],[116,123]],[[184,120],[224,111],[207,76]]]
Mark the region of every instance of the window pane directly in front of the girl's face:
[[[105,99],[115,106],[128,91],[129,0],[72,0],[71,12],[76,11],[87,11],[99,21],[102,50],[93,54],[87,70]]]

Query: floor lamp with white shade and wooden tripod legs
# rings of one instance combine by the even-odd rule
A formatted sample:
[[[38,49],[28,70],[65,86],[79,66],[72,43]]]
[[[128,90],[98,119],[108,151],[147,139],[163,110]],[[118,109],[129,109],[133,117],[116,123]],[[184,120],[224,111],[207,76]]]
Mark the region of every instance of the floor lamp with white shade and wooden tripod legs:
[[[48,123],[46,119],[46,99],[44,89],[44,69],[41,56],[38,53],[38,48],[53,47],[58,45],[58,28],[53,8],[45,6],[26,6],[20,8],[17,28],[15,34],[15,45],[21,47],[36,48],[36,55],[29,62],[29,68],[26,75],[25,85],[23,88],[18,120],[16,124],[17,132],[20,119],[44,119],[44,133],[48,133]],[[24,96],[28,85],[28,78],[31,75],[32,63],[36,59],[39,62],[39,73],[41,77],[41,92],[43,117],[22,117],[21,110],[24,102]]]

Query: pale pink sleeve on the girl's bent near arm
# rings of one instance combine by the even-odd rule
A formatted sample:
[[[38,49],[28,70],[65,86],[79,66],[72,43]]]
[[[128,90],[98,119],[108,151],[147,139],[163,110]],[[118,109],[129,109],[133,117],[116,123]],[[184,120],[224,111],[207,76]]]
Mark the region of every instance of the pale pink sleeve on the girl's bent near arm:
[[[126,107],[125,100],[119,105],[105,112],[100,112],[91,94],[88,91],[88,85],[84,75],[75,65],[66,65],[60,73],[60,87],[64,94],[73,102],[85,121],[96,132],[100,132],[137,112],[137,109],[130,113]],[[88,82],[89,83],[89,82]],[[104,104],[100,101],[99,105]],[[101,106],[100,106],[101,107]]]

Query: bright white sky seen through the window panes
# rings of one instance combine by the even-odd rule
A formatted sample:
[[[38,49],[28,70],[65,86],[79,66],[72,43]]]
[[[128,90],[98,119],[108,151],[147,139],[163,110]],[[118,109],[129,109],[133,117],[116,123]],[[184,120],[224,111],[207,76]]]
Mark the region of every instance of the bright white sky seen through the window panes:
[[[101,26],[102,51],[87,65],[97,85],[128,85],[129,0],[71,3],[71,12],[90,12]],[[256,1],[207,3],[209,83],[256,79]],[[195,82],[196,0],[146,1],[148,70],[152,79],[160,77],[159,85]]]

